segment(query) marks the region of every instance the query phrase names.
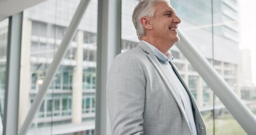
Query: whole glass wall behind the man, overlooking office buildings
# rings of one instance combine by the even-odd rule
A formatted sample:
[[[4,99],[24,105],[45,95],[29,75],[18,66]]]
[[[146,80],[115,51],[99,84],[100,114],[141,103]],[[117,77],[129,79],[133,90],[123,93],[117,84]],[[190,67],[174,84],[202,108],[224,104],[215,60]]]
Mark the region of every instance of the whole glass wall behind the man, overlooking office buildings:
[[[132,24],[132,12],[137,3],[138,0],[122,0],[121,52],[136,47],[139,42]],[[256,82],[253,80],[256,78],[253,76],[256,50],[251,48],[254,37],[250,36],[254,34],[246,31],[256,22],[253,17],[246,17],[255,7],[251,5],[256,3],[249,5],[236,0],[173,0],[170,3],[182,20],[179,30],[256,115]],[[78,4],[79,0],[48,0],[24,11],[19,128],[43,84]],[[97,4],[97,0],[89,2],[28,134],[95,134]],[[242,12],[240,6],[250,10]],[[243,21],[249,27],[244,27]],[[0,22],[0,132],[5,101],[7,33],[8,19]],[[169,52],[197,102],[207,134],[246,134],[177,46]]]

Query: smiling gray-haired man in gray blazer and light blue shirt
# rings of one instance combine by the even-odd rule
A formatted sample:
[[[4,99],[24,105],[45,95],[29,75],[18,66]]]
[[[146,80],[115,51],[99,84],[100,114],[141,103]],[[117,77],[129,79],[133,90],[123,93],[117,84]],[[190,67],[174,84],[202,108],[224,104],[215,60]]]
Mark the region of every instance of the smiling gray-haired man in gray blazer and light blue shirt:
[[[178,42],[175,10],[165,0],[143,0],[133,11],[141,42],[116,56],[107,78],[113,135],[206,134],[194,98],[168,50]]]

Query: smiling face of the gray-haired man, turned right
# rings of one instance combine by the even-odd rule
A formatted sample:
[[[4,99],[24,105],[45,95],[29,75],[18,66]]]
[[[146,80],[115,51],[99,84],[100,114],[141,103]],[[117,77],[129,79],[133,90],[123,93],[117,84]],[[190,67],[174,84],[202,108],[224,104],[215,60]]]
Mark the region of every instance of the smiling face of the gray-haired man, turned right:
[[[166,2],[160,2],[155,6],[155,17],[151,19],[152,38],[164,40],[169,43],[176,43],[179,41],[178,24],[181,20],[176,15],[175,10]]]

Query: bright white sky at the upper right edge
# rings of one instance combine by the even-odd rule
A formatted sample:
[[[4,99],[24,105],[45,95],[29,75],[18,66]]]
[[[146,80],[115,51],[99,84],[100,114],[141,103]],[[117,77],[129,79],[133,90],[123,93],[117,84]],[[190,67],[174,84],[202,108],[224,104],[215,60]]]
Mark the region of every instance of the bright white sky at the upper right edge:
[[[251,51],[251,70],[253,83],[256,84],[256,16],[255,0],[240,2],[240,48],[248,48]]]

